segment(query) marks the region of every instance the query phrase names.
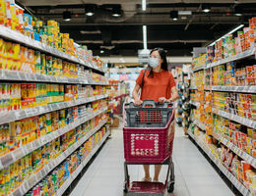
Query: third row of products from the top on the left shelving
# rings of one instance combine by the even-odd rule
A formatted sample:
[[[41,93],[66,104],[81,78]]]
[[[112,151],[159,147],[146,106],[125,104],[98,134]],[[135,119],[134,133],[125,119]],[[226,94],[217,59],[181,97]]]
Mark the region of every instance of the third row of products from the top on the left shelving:
[[[0,113],[105,94],[105,87],[46,83],[0,83]]]

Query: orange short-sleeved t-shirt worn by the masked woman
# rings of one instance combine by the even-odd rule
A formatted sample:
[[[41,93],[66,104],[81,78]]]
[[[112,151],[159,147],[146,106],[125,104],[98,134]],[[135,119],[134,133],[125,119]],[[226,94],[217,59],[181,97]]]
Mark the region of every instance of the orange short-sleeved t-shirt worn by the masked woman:
[[[141,71],[136,82],[141,85],[145,70]],[[160,97],[169,99],[171,97],[171,88],[176,86],[172,73],[169,71],[162,71],[160,73],[153,73],[154,76],[148,77],[150,71],[146,71],[144,76],[144,85],[141,91],[141,100],[153,99],[159,102]]]

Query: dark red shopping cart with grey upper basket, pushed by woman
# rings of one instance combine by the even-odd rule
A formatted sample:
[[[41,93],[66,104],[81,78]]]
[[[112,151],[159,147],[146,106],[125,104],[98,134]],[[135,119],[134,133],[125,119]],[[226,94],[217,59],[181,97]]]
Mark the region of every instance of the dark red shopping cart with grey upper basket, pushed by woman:
[[[172,104],[145,100],[142,107],[124,104],[124,192],[127,195],[164,195],[174,190],[172,147],[174,109]],[[167,165],[165,182],[130,182],[128,165]]]

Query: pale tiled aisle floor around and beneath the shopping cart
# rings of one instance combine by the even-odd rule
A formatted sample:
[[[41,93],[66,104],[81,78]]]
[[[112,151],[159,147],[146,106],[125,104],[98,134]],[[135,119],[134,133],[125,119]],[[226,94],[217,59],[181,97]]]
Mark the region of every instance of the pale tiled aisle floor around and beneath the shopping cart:
[[[122,130],[112,131],[109,139],[89,170],[81,178],[71,196],[123,196]],[[198,151],[197,147],[176,127],[173,162],[175,167],[174,196],[232,196],[219,174]],[[163,181],[166,168],[162,168]],[[154,170],[151,167],[151,173]],[[142,166],[130,166],[131,180],[141,180]],[[168,195],[168,194],[166,194]]]

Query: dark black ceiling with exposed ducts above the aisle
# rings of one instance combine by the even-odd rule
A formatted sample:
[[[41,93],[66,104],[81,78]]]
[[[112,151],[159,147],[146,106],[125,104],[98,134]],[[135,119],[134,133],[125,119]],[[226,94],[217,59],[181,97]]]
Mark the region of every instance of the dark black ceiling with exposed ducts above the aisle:
[[[16,1],[17,2],[17,1]],[[137,56],[143,49],[142,25],[148,28],[148,48],[162,47],[168,56],[191,56],[193,47],[205,46],[248,19],[256,16],[256,0],[147,0],[142,11],[141,0],[18,0],[43,21],[55,20],[61,31],[70,33],[78,43],[88,46],[95,55]],[[85,15],[85,6],[96,4],[93,17]],[[204,13],[202,6],[211,6]],[[112,8],[121,8],[120,18],[111,16]],[[241,9],[243,15],[234,15]],[[72,20],[63,21],[70,11]],[[170,19],[170,11],[192,11],[192,15]],[[103,53],[100,53],[100,51]]]

